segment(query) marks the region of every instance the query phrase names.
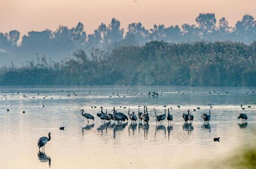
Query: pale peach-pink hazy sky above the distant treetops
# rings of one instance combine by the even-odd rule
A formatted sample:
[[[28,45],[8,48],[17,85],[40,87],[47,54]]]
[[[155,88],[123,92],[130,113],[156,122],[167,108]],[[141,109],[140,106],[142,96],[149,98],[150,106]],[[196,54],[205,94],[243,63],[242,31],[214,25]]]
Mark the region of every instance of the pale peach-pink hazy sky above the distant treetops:
[[[199,13],[215,13],[230,25],[243,14],[256,17],[256,0],[0,0],[0,32],[19,30],[56,30],[58,25],[74,27],[84,23],[92,33],[101,22],[115,17],[121,26],[141,22],[146,28],[154,23],[165,26],[195,23]]]

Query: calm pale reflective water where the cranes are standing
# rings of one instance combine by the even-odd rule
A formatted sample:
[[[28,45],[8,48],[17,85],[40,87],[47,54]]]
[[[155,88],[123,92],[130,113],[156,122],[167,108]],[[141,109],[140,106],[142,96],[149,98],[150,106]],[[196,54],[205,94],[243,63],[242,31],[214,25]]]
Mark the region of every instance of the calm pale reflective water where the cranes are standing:
[[[211,166],[256,140],[256,94],[252,92],[256,88],[253,87],[178,87],[175,93],[163,91],[159,92],[163,96],[155,97],[147,96],[147,92],[119,97],[90,88],[91,93],[76,92],[75,96],[73,87],[58,86],[0,86],[0,89],[3,90],[0,91],[0,168],[4,169],[182,168],[191,164],[199,167],[203,163]],[[241,104],[245,110],[240,108]],[[112,113],[115,106],[125,114],[130,107],[137,114],[138,105],[141,111],[144,105],[148,106],[149,125],[138,122],[131,125],[130,121],[102,125],[96,116],[101,106],[108,113]],[[169,126],[167,120],[156,126],[154,108],[157,114],[163,114],[163,105],[172,107],[174,120]],[[200,110],[193,111],[196,107]],[[82,108],[95,117],[94,122],[89,121],[87,125],[79,111]],[[181,117],[188,109],[194,115],[192,125],[184,124]],[[211,121],[205,125],[201,114],[208,114],[209,109]],[[247,114],[246,123],[237,119],[240,113]],[[60,126],[65,126],[65,131],[60,130]],[[52,139],[45,146],[45,152],[39,152],[37,141],[49,132]],[[214,137],[220,137],[220,142],[214,142]]]

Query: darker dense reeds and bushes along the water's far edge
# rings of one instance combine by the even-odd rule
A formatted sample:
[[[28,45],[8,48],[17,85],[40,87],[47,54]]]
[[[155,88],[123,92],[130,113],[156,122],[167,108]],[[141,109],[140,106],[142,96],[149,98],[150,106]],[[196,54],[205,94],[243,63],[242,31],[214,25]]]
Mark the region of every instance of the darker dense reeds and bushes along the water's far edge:
[[[256,86],[256,41],[151,41],[90,55],[78,49],[60,62],[42,56],[0,72],[0,85],[136,85],[153,76],[152,85]]]

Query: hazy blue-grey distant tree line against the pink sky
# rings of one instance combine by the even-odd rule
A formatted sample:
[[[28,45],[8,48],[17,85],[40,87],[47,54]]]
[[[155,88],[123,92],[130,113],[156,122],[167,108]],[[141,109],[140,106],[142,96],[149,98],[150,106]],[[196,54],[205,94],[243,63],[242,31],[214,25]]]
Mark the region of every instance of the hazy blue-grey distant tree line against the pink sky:
[[[256,21],[252,15],[244,15],[235,27],[231,27],[223,17],[218,23],[214,13],[200,13],[196,25],[184,23],[165,26],[154,25],[146,29],[142,23],[131,23],[125,32],[120,21],[112,18],[109,25],[101,23],[94,33],[87,35],[84,24],[75,27],[60,25],[57,30],[30,31],[20,39],[18,30],[0,33],[0,61],[8,65],[10,61],[20,64],[37,55],[47,56],[52,61],[60,61],[72,55],[76,49],[83,49],[87,55],[98,48],[107,52],[124,45],[145,45],[150,41],[182,43],[194,41],[240,41],[250,44],[256,38]]]

